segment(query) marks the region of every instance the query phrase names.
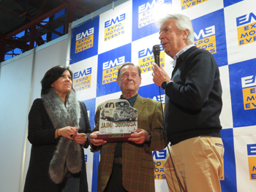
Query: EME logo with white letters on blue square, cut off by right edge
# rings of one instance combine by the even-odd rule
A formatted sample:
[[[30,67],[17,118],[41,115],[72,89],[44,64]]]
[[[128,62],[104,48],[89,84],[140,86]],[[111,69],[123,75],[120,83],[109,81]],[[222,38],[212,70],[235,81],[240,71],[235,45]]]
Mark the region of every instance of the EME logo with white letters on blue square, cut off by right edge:
[[[244,110],[256,109],[256,75],[242,77],[241,84],[243,88]]]

